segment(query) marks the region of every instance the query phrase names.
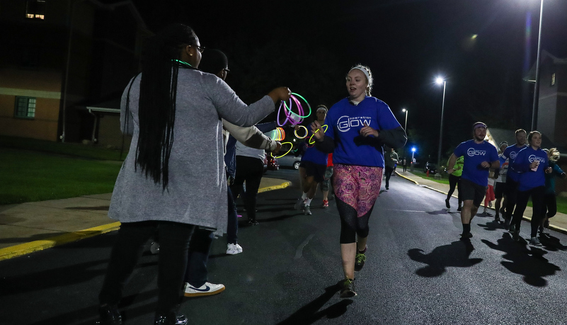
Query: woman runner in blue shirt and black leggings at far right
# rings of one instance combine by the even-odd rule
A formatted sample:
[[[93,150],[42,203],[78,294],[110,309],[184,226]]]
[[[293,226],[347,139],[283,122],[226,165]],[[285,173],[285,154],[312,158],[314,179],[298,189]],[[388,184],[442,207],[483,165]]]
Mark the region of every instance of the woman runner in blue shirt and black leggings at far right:
[[[547,158],[546,152],[541,148],[542,134],[538,131],[529,132],[527,142],[529,146],[520,150],[510,165],[510,168],[513,167],[515,171],[520,173],[516,210],[514,211],[510,231],[512,231],[512,225],[514,225],[512,238],[515,241],[520,240],[520,225],[522,224],[522,217],[526,210],[527,201],[531,196],[532,234],[529,244],[541,246],[542,243],[537,239],[537,229],[539,222],[545,215],[545,174],[551,173],[551,167],[549,167],[549,159]],[[508,173],[508,175],[510,175],[510,173]]]

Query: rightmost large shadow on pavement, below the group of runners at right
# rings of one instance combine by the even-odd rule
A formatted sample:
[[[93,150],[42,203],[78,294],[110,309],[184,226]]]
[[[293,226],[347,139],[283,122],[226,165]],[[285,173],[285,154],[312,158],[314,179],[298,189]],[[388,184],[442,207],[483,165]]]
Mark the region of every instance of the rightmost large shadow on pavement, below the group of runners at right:
[[[544,277],[555,275],[561,270],[559,266],[544,258],[547,251],[527,246],[525,239],[514,241],[510,234],[505,233],[498,239],[497,244],[486,239],[481,241],[491,249],[503,251],[505,254],[502,257],[508,261],[502,261],[500,264],[512,273],[523,275],[524,282],[534,287],[545,287],[547,280]]]

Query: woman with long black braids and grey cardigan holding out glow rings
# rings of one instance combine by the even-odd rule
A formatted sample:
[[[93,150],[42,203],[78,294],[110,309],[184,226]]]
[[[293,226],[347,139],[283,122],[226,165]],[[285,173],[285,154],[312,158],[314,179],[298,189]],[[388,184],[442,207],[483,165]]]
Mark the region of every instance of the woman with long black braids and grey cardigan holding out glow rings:
[[[221,119],[251,126],[290,98],[280,87],[247,106],[222,79],[197,69],[203,49],[190,27],[168,26],[144,43],[142,73],[122,94],[121,129],[132,134],[132,144],[108,211],[122,224],[99,295],[98,324],[122,324],[122,290],[156,229],[154,324],[187,323],[178,304],[191,233],[227,228]]]

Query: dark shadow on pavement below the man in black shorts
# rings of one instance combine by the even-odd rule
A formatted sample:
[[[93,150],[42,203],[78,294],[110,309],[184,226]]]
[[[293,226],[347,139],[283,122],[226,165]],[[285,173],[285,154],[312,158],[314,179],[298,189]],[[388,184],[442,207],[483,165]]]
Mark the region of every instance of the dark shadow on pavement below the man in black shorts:
[[[420,263],[428,264],[416,270],[416,274],[425,278],[440,276],[447,267],[468,268],[481,263],[482,258],[469,258],[474,246],[470,240],[453,241],[449,245],[439,246],[431,253],[425,254],[422,249],[410,249],[408,256]]]

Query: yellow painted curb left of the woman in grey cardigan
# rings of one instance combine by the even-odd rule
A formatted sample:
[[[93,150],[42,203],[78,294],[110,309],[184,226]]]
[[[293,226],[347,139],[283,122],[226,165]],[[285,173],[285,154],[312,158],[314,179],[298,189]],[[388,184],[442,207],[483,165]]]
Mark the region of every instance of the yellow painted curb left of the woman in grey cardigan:
[[[0,249],[0,261],[33,253],[34,251],[50,249],[55,246],[86,239],[99,234],[105,234],[106,232],[113,232],[119,228],[120,222],[113,222],[111,224],[103,224],[102,226],[79,230],[79,232],[69,232],[67,234],[62,234],[48,239],[30,241],[25,244],[6,247],[4,249]]]

